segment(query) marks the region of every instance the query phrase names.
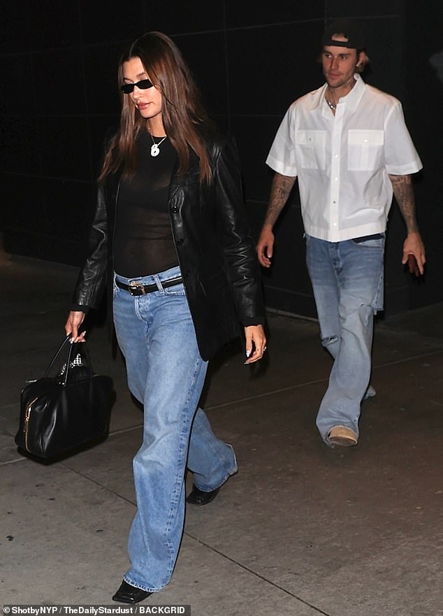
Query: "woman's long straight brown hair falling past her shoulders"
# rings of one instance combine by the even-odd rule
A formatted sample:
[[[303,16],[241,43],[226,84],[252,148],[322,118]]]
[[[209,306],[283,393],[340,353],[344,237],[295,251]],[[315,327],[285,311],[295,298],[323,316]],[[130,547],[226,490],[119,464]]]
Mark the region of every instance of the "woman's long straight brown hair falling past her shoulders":
[[[209,183],[212,172],[208,150],[197,127],[210,122],[180,50],[166,34],[156,31],[143,34],[129,45],[120,59],[119,87],[123,84],[123,64],[134,57],[140,58],[150,80],[161,93],[161,116],[166,134],[177,152],[178,173],[182,175],[189,168],[189,148],[192,148],[200,159],[200,181]],[[130,96],[120,92],[120,102],[119,129],[108,146],[100,182],[121,167],[126,178],[133,176],[137,169],[136,138],[140,131],[146,130],[146,120],[138,113]]]

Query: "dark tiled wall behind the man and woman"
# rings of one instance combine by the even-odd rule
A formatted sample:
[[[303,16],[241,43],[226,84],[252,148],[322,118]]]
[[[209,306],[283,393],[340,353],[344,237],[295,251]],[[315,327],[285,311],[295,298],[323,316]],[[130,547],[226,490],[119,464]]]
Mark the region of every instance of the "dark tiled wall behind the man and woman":
[[[235,135],[258,235],[271,180],[264,159],[289,103],[323,81],[316,59],[324,24],[332,17],[359,17],[371,58],[365,79],[402,99],[426,165],[417,194],[432,262],[425,284],[414,285],[399,264],[404,231],[393,210],[386,308],[395,312],[441,301],[436,262],[442,256],[442,83],[429,57],[443,46],[442,1],[432,8],[414,0],[128,0],[124,6],[103,0],[10,1],[0,36],[6,248],[81,263],[101,144],[118,117],[119,53],[124,43],[152,29],[173,36],[206,106]],[[439,129],[440,141],[430,138]],[[314,316],[296,191],[276,235],[273,271],[263,273],[268,306]]]

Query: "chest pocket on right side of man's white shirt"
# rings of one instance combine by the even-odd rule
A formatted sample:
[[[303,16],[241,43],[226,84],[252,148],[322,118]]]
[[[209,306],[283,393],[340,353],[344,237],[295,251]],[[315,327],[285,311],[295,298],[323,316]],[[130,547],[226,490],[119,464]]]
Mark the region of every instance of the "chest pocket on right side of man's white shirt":
[[[382,164],[384,131],[348,131],[349,171],[375,171]]]

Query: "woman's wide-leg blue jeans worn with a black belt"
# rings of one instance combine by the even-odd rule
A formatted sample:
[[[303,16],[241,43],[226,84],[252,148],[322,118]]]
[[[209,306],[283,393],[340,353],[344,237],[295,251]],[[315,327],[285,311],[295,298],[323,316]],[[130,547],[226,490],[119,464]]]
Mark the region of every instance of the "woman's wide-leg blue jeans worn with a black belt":
[[[212,433],[198,408],[208,362],[198,352],[184,286],[161,282],[178,267],[128,279],[159,290],[131,296],[114,284],[117,341],[126,360],[129,389],[144,407],[143,443],[133,459],[137,512],[129,533],[129,584],[150,592],[170,580],[184,526],[186,466],[194,483],[210,491],[237,470],[231,445]]]

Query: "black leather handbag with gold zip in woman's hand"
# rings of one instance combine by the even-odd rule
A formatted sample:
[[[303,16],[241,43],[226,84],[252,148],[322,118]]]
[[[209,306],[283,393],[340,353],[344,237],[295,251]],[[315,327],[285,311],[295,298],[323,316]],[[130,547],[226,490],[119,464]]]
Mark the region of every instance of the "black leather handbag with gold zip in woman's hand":
[[[69,338],[61,343],[45,375],[22,389],[15,444],[39,458],[59,457],[109,433],[112,378],[94,374],[86,343],[71,344]],[[50,376],[66,346],[66,363]]]

